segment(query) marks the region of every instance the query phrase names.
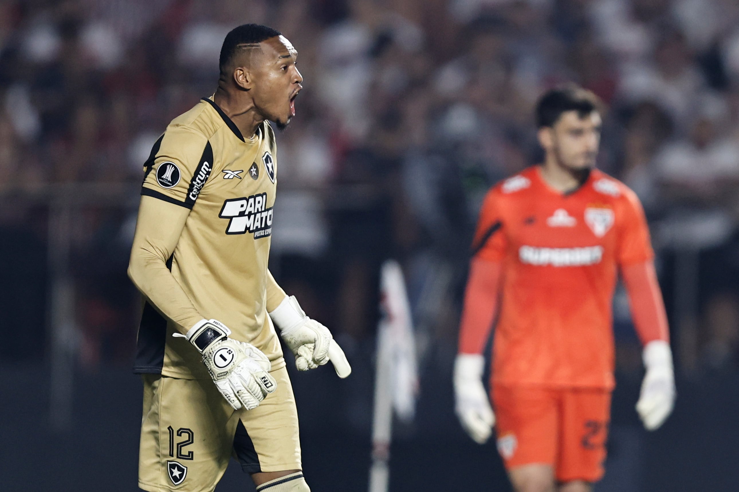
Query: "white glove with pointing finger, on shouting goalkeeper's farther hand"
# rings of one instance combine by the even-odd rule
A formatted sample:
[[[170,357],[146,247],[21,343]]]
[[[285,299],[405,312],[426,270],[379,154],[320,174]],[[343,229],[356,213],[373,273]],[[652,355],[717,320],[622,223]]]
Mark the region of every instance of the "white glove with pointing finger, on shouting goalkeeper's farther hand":
[[[295,296],[285,297],[269,315],[279,328],[285,344],[295,354],[295,365],[299,371],[316,369],[331,361],[339,378],[350,375],[352,367],[344,350],[338,346],[328,328],[305,315]]]

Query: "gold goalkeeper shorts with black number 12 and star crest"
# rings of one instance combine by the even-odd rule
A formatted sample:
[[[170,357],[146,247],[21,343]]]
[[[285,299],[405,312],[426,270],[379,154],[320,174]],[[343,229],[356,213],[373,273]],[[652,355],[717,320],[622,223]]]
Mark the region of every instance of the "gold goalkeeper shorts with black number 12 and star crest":
[[[302,469],[298,413],[287,369],[256,409],[234,410],[211,380],[143,375],[139,487],[213,491],[228,460],[249,474]]]

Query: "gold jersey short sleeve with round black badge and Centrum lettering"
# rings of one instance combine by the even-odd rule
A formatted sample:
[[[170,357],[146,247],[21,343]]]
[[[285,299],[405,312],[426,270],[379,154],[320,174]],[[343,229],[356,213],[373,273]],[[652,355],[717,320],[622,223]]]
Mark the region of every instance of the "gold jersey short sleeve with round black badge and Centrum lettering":
[[[144,164],[141,194],[191,209],[213,170],[213,148],[202,134],[168,128]]]

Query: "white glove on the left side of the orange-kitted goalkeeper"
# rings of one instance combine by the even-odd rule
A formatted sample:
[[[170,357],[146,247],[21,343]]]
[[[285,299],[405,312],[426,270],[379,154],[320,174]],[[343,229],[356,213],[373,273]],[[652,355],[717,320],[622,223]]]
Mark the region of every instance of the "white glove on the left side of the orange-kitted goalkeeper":
[[[493,433],[495,414],[483,386],[485,358],[460,353],[454,360],[454,410],[463,428],[476,443],[484,444]]]

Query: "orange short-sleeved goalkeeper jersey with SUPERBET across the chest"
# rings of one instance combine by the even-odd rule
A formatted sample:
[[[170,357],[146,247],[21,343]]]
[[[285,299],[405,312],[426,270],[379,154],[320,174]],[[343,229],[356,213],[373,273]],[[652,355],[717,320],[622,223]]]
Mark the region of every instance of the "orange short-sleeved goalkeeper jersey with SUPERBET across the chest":
[[[629,188],[593,170],[562,194],[530,167],[488,193],[473,249],[503,264],[495,383],[613,387],[617,270],[653,257]]]

